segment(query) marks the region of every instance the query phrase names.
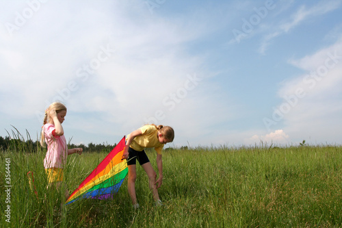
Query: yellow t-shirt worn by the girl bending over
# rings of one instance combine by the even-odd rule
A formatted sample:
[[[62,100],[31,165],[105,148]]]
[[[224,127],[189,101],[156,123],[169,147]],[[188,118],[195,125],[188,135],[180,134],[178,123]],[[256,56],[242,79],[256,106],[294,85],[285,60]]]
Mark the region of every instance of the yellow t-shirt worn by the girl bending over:
[[[135,151],[143,151],[145,148],[154,147],[155,151],[161,155],[161,149],[163,149],[164,144],[158,140],[157,128],[153,125],[145,125],[144,127],[140,127],[140,129],[142,130],[142,135],[133,138],[129,147],[135,149]]]

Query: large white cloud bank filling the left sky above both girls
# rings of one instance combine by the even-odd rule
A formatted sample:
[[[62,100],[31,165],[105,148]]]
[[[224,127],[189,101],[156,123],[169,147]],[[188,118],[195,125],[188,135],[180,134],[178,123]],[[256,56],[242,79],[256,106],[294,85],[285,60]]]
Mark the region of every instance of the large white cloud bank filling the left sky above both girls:
[[[60,100],[68,107],[64,124],[76,143],[87,141],[79,131],[122,136],[156,116],[158,123],[174,126],[181,140],[185,134],[193,137],[190,129],[200,132],[199,125],[226,116],[214,95],[203,92],[214,86],[202,68],[205,56],[184,49],[207,32],[201,23],[152,16],[138,1],[133,8],[132,2],[82,4],[49,1],[11,38],[1,33],[6,37],[0,46],[3,114],[25,116],[40,126],[45,108]],[[200,81],[187,83],[194,75]],[[218,107],[222,112],[215,114]],[[204,121],[213,113],[215,119]]]

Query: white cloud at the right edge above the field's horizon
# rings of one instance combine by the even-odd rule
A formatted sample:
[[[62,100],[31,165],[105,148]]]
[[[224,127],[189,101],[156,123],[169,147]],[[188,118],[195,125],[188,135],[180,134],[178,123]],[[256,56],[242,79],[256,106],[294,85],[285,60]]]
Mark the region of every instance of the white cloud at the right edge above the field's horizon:
[[[342,107],[342,39],[334,45],[290,60],[306,74],[282,84],[278,95],[283,98],[285,131],[296,140],[311,138],[313,142],[336,142],[341,135]],[[299,92],[300,91],[300,92]],[[285,109],[283,109],[285,110]],[[334,131],[332,131],[334,129]]]

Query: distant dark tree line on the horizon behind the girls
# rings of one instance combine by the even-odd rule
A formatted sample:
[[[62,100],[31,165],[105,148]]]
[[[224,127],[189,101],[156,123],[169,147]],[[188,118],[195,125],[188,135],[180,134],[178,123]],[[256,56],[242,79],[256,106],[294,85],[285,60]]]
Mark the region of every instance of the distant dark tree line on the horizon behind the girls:
[[[92,142],[88,143],[88,145],[85,144],[71,144],[68,143],[68,149],[73,149],[75,147],[81,147],[83,149],[83,152],[106,152],[109,153],[116,144],[94,144]],[[38,140],[33,141],[31,139],[25,140],[23,137],[16,137],[16,138],[10,138],[9,136],[5,136],[3,138],[0,136],[0,151],[6,151],[6,150],[12,150],[12,151],[25,151],[28,153],[34,153],[38,151],[38,149],[42,149],[42,146],[40,145],[40,142]]]

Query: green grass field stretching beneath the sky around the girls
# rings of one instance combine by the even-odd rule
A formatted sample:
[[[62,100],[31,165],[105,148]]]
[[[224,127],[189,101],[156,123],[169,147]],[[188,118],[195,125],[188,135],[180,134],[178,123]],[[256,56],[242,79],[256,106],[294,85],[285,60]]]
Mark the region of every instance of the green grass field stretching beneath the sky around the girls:
[[[155,152],[147,153],[157,170]],[[113,200],[63,205],[63,190],[47,190],[44,155],[25,147],[1,152],[1,227],[342,227],[342,147],[169,149],[159,188],[163,207],[154,206],[137,166],[139,210],[131,207],[127,180]],[[68,157],[70,193],[106,155]]]

